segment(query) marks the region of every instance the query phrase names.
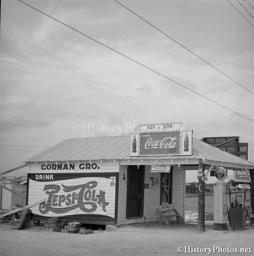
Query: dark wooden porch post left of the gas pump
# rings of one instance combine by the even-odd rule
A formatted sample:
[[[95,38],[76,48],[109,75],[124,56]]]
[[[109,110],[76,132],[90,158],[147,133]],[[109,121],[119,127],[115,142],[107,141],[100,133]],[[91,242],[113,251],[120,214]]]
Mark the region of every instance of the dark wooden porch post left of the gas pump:
[[[202,172],[202,176],[198,176],[198,233],[205,232],[205,181],[202,177],[205,176],[205,164],[202,164],[202,160],[199,159],[198,164],[199,173]]]

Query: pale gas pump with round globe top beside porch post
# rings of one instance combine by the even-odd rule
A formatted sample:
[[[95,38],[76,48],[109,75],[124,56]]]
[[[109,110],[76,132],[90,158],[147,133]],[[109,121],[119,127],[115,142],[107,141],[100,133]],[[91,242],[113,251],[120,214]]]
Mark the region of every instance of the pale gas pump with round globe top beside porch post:
[[[227,229],[227,195],[226,183],[223,181],[226,177],[226,170],[223,167],[216,168],[214,172],[218,179],[214,183],[214,225],[213,230],[228,230]]]

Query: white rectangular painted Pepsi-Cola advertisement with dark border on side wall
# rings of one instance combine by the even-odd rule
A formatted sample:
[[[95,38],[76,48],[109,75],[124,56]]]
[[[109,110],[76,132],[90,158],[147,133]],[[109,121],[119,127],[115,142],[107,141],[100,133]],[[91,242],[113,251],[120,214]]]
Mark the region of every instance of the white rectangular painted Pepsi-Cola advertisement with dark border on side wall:
[[[70,179],[54,174],[56,179],[47,181],[37,180],[38,175],[29,177],[28,202],[32,204],[44,198],[46,201],[32,207],[33,214],[46,217],[96,214],[114,218],[115,176]]]

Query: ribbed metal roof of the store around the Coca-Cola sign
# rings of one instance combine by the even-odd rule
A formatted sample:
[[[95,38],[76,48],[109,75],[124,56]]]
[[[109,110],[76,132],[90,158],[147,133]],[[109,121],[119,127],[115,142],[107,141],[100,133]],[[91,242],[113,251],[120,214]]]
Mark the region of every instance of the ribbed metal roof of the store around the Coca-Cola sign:
[[[123,159],[206,159],[243,165],[253,163],[193,138],[192,156],[130,157],[130,136],[67,139],[25,162],[123,160]]]

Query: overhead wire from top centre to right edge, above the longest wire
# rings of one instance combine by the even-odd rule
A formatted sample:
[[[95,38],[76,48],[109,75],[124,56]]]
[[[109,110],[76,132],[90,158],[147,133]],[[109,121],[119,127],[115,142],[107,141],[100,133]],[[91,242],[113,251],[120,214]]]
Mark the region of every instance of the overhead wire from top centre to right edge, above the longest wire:
[[[253,92],[251,92],[249,89],[247,89],[246,87],[244,87],[242,84],[240,84],[239,82],[237,82],[236,80],[234,80],[233,78],[231,78],[230,76],[226,75],[224,72],[220,71],[219,69],[217,69],[216,67],[214,67],[211,63],[209,63],[207,60],[201,58],[200,56],[198,56],[196,53],[194,53],[193,51],[189,50],[187,47],[185,47],[184,45],[182,45],[180,42],[176,41],[175,39],[173,39],[171,36],[167,35],[166,33],[164,33],[162,30],[158,29],[157,27],[155,27],[153,24],[147,22],[146,19],[142,18],[141,16],[139,16],[137,13],[135,13],[134,11],[132,11],[131,9],[129,9],[128,7],[124,6],[123,4],[121,4],[120,2],[118,2],[117,0],[114,0],[116,3],[118,3],[119,5],[121,5],[122,7],[124,7],[126,10],[130,11],[131,13],[133,13],[134,15],[136,15],[137,17],[141,18],[145,23],[149,24],[151,27],[155,28],[156,30],[158,30],[159,32],[161,32],[163,35],[167,36],[169,39],[173,40],[174,42],[176,42],[176,44],[180,45],[181,47],[183,47],[185,50],[187,50],[188,52],[192,53],[193,55],[195,55],[197,58],[201,59],[202,61],[204,61],[205,63],[207,63],[210,67],[212,67],[213,69],[217,70],[218,72],[220,72],[222,75],[226,76],[227,78],[229,78],[230,80],[232,80],[233,82],[237,83],[240,87],[244,88],[245,90],[247,90],[248,92],[250,92],[251,94],[254,94]],[[253,26],[252,26],[253,27]],[[254,27],[253,27],[254,28]]]

